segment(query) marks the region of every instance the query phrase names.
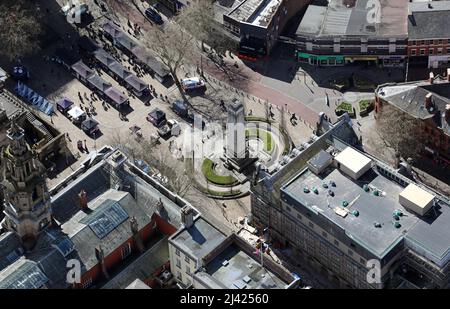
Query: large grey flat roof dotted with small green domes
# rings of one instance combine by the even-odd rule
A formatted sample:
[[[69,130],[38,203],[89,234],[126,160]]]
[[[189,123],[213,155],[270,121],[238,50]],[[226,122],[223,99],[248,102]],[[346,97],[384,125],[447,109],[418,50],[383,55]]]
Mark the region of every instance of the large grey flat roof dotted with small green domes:
[[[330,181],[333,181],[336,187],[330,186],[328,189],[324,189],[322,184],[329,184]],[[382,193],[376,196],[372,189],[370,192],[366,192],[363,189],[365,184]],[[319,193],[315,194],[312,190],[305,193],[303,191],[305,187],[310,189],[316,187]],[[333,197],[327,194],[328,190],[334,192]],[[402,190],[400,185],[373,170],[369,170],[357,181],[354,181],[333,166],[330,166],[320,176],[304,170],[282,188],[282,192],[297,200],[299,205],[304,205],[313,212],[324,216],[342,228],[355,242],[380,258],[388,253],[390,248],[403,238],[404,233],[419,220],[398,202],[398,196]],[[349,204],[346,208],[342,204],[344,201]],[[346,209],[347,216],[344,218],[338,215],[335,208]],[[359,212],[358,216],[352,214],[355,210]],[[400,210],[405,214],[400,218],[400,228],[394,227],[393,213],[395,210]],[[381,227],[375,227],[374,223],[381,224]]]

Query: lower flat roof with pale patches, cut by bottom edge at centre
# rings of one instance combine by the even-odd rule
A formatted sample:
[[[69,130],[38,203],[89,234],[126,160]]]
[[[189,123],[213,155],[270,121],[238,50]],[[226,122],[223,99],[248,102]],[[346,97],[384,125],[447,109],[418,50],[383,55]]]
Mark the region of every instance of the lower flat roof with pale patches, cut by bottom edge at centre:
[[[283,289],[286,286],[234,243],[208,263],[206,273],[229,289]]]

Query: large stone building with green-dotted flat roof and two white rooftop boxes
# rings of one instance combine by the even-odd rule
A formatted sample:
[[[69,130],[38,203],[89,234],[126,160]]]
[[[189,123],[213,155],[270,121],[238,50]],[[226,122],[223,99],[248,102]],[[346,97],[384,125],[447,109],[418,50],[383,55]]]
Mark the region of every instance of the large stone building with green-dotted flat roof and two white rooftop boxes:
[[[349,148],[342,135],[346,126],[341,120],[283,169],[260,178],[251,193],[256,227],[268,228],[275,244],[290,248],[337,287],[395,288],[411,278],[421,278],[410,284],[414,287],[448,286],[450,230],[444,221],[450,218],[450,201],[415,186],[411,200],[426,196],[433,209],[443,211],[441,216],[433,210],[416,213],[399,197],[412,181]],[[323,161],[326,167],[316,174],[309,165],[321,150],[333,160]],[[363,172],[359,163],[367,159],[370,168]],[[435,233],[446,240],[433,239]]]

